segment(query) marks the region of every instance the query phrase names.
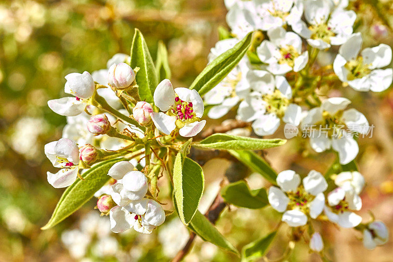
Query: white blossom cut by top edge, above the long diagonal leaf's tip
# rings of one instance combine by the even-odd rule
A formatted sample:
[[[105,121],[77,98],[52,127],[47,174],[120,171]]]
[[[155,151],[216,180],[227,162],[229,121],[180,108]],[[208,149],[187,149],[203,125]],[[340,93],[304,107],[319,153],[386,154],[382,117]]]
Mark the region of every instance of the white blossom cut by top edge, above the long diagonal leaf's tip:
[[[298,0],[253,0],[262,30],[292,25],[301,19],[303,2]]]

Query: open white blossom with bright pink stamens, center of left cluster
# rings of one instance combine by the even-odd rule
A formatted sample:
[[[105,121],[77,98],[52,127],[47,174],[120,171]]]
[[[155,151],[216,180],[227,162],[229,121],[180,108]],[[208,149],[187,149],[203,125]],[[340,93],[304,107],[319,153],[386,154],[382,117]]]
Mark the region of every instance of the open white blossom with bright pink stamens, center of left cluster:
[[[206,124],[200,120],[203,115],[203,101],[198,92],[185,87],[173,90],[168,79],[161,81],[154,91],[154,104],[163,112],[150,113],[154,125],[169,135],[176,127],[182,137],[197,135]]]

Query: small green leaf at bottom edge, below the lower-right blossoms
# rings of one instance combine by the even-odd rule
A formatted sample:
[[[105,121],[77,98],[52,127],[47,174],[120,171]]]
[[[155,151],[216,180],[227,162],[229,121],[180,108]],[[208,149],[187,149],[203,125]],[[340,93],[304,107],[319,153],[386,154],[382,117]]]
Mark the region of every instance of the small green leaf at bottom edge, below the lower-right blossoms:
[[[251,261],[263,257],[276,234],[277,231],[274,231],[261,239],[245,245],[242,249],[242,261]]]

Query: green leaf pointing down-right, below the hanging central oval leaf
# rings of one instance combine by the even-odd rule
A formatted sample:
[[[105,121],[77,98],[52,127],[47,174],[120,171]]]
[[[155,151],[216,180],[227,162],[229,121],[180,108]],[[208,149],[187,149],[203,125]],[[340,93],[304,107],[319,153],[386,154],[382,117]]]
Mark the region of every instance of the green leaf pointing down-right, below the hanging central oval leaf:
[[[195,213],[188,227],[203,240],[239,256],[239,251],[237,251],[237,249],[199,211]]]

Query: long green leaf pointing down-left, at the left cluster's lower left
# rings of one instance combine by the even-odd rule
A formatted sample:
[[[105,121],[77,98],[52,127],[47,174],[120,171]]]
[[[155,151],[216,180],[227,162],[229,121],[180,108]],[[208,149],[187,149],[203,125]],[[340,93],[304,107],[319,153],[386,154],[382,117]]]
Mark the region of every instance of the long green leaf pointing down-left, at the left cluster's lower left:
[[[84,174],[82,174],[84,180],[78,178],[72,185],[67,187],[63,195],[61,195],[51,219],[41,229],[46,230],[52,228],[78,210],[84,203],[93,197],[98,189],[108,182],[111,178],[111,176],[108,175],[108,171],[113,164],[123,160],[125,159],[117,158],[103,161],[95,164],[84,172]]]

